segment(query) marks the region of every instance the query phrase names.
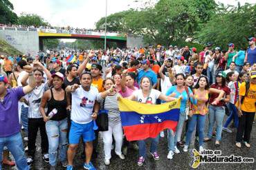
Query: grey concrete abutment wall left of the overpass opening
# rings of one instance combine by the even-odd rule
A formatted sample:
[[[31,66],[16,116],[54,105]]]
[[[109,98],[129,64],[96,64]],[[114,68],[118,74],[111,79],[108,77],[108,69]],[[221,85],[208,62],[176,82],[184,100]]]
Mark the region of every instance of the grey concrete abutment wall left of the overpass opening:
[[[24,54],[35,56],[39,52],[37,31],[0,30],[0,39],[4,39]]]

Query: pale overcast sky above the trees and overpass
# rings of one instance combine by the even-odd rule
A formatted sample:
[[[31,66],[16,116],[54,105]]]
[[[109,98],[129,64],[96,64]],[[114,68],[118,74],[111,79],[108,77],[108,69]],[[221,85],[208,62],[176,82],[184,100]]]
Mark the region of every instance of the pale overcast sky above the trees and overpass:
[[[105,16],[106,0],[9,0],[14,11],[38,14],[48,23],[55,26],[74,28],[95,28],[95,23]],[[107,15],[129,8],[139,8],[147,0],[107,0]],[[157,0],[151,0],[152,3]],[[216,0],[227,4],[227,0]],[[240,0],[244,3],[255,3],[255,0]],[[237,5],[237,0],[228,0]]]

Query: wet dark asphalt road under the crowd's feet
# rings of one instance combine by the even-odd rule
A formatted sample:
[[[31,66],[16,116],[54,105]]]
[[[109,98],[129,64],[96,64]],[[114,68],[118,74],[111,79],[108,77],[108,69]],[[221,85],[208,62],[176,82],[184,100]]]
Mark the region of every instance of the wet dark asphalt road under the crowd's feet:
[[[208,122],[206,123],[208,125]],[[222,155],[221,156],[242,156],[247,158],[254,158],[256,160],[256,125],[253,124],[253,131],[251,133],[251,148],[248,149],[244,145],[242,145],[241,149],[237,149],[235,146],[235,136],[236,132],[233,132],[232,134],[228,134],[227,132],[223,132],[223,137],[221,140],[221,146],[215,147],[214,146],[214,140],[205,143],[205,149],[212,149],[212,150],[221,150]],[[206,131],[206,128],[205,128]],[[232,131],[236,131],[235,129],[232,129]],[[50,169],[49,165],[46,164],[42,160],[41,156],[41,149],[39,147],[39,137],[37,137],[37,153],[35,156],[35,161],[33,163],[33,167],[31,169]],[[103,143],[102,138],[100,136],[100,143],[98,145],[98,158],[93,160],[93,164],[95,165],[96,169],[113,169],[113,170],[120,170],[120,169],[192,169],[190,167],[191,162],[194,160],[194,154],[192,153],[192,149],[194,147],[198,147],[198,143],[194,142],[190,145],[190,149],[187,153],[184,153],[181,150],[181,153],[174,154],[174,158],[172,160],[167,159],[167,133],[165,131],[165,138],[161,138],[159,145],[158,145],[158,154],[160,155],[160,160],[155,161],[152,156],[149,155],[149,142],[147,142],[147,158],[145,160],[145,164],[143,164],[142,167],[138,167],[137,165],[137,159],[138,159],[138,151],[135,151],[133,149],[128,150],[128,154],[125,158],[125,160],[120,160],[118,156],[115,155],[114,151],[112,151],[112,158],[111,158],[111,164],[109,166],[104,165],[104,154],[103,154]],[[27,145],[26,142],[24,142],[24,145]],[[83,167],[83,160],[81,158],[82,154],[82,145],[80,145],[80,148],[77,151],[77,154],[75,156],[75,169],[82,170]],[[15,167],[3,167],[4,170],[6,169],[16,169]],[[57,169],[64,169],[58,164]],[[204,163],[200,164],[197,169],[256,169],[256,162],[254,163]]]

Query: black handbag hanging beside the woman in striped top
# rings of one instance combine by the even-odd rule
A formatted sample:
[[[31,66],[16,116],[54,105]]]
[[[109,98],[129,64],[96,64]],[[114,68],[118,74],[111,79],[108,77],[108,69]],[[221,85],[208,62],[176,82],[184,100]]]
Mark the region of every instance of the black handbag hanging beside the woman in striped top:
[[[96,124],[98,126],[98,131],[108,131],[109,130],[109,111],[104,109],[105,99],[103,100],[102,109],[100,109],[99,114],[96,118]]]

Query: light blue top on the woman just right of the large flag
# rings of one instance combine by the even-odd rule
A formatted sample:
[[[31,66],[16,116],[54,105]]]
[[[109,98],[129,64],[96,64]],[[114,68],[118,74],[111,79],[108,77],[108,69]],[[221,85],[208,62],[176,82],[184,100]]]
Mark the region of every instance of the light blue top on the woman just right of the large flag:
[[[192,91],[191,91],[190,87],[188,87],[188,92],[189,92],[189,94],[192,94]],[[170,87],[170,89],[167,90],[167,92],[166,92],[165,95],[166,95],[166,96],[170,96],[170,94],[172,94],[172,93],[175,93],[175,94],[176,94],[176,95],[174,96],[175,98],[179,98],[179,96],[182,95],[183,98],[182,98],[182,100],[181,100],[180,113],[185,112],[186,103],[187,103],[187,100],[188,100],[188,94],[187,94],[187,92],[185,91],[185,89],[184,89],[184,91],[183,91],[182,93],[180,93],[180,92],[177,91],[177,86],[174,85],[174,86]],[[190,97],[190,101],[192,101],[192,100],[193,100],[193,98]]]

